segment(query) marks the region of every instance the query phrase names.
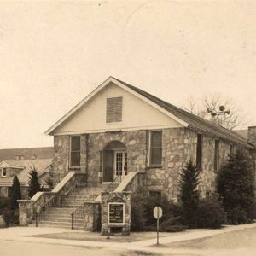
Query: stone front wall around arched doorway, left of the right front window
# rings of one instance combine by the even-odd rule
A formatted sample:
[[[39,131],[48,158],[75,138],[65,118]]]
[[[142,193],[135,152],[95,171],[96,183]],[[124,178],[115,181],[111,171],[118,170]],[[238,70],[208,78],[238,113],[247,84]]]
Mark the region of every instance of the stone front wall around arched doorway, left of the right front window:
[[[119,141],[127,148],[128,171],[145,172],[147,163],[147,131],[94,133],[81,136],[80,169],[69,168],[69,136],[55,136],[54,184],[69,171],[87,173],[88,185],[102,181],[101,152],[108,143]]]

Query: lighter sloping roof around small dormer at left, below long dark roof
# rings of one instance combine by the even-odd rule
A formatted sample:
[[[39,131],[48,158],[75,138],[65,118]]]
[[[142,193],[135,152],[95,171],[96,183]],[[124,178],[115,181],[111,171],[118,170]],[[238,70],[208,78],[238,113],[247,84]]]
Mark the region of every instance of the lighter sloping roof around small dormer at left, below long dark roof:
[[[1,161],[3,162],[3,161]],[[52,159],[37,159],[37,160],[4,160],[9,166],[23,166],[23,169],[17,172],[17,177],[21,186],[26,186],[28,183],[28,173],[32,167],[38,171],[38,177],[48,172],[48,167],[52,163]],[[12,186],[14,177],[0,178],[0,186]]]

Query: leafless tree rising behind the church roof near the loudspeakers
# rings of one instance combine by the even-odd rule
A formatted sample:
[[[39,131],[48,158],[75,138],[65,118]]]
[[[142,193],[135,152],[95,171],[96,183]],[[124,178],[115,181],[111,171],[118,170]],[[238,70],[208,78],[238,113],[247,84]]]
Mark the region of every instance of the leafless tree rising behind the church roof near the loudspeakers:
[[[226,111],[230,110],[230,113],[220,112],[220,106],[224,106]],[[233,100],[217,94],[202,96],[199,99],[190,96],[183,108],[230,130],[246,125],[245,116],[236,108]]]

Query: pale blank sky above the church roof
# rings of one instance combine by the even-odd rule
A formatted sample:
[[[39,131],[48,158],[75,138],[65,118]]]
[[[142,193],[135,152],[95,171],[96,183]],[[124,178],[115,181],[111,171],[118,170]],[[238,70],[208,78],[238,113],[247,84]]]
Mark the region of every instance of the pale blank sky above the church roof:
[[[177,106],[220,94],[256,125],[256,1],[0,2],[0,148],[53,146],[109,76]]]

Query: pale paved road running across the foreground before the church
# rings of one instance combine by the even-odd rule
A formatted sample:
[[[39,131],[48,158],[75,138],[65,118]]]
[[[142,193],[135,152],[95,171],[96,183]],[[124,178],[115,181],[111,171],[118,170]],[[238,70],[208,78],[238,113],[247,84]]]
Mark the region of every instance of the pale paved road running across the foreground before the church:
[[[227,230],[193,230],[171,234],[160,247],[152,242],[108,243],[40,239],[32,234],[49,234],[57,230],[16,228],[0,230],[0,256],[254,256],[256,224],[235,226]],[[58,230],[63,232],[63,230]],[[25,236],[26,234],[26,236]],[[28,236],[30,235],[30,236]],[[197,239],[191,239],[195,238]],[[169,239],[169,241],[168,241]]]

